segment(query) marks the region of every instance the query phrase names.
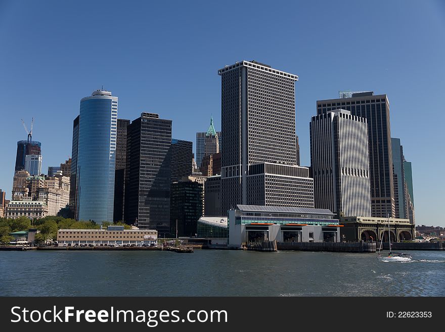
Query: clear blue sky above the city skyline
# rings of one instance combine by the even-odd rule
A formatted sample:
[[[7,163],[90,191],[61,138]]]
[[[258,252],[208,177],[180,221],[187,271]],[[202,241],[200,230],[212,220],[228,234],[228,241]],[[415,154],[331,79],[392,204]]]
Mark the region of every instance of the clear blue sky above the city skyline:
[[[34,117],[46,173],[71,156],[80,99],[102,85],[119,118],[159,113],[195,148],[210,115],[220,129],[217,70],[241,60],[299,76],[302,165],[317,100],[386,93],[391,136],[413,163],[416,223],[445,226],[443,1],[0,0],[0,188],[11,197],[20,119]]]

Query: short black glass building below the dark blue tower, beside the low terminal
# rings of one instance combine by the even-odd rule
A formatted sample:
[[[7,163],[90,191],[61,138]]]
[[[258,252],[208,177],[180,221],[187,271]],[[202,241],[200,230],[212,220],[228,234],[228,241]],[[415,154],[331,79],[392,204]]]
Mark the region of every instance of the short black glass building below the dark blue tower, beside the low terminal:
[[[203,185],[192,176],[171,184],[170,233],[196,236],[197,222],[202,216]],[[177,228],[176,228],[177,225]]]

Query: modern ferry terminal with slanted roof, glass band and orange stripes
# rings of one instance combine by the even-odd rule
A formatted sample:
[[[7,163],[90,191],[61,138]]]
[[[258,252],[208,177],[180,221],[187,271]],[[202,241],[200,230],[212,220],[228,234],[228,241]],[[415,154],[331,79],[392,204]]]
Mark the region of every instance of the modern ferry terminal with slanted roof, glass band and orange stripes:
[[[249,243],[340,242],[340,225],[326,209],[238,205],[229,211],[229,247]]]

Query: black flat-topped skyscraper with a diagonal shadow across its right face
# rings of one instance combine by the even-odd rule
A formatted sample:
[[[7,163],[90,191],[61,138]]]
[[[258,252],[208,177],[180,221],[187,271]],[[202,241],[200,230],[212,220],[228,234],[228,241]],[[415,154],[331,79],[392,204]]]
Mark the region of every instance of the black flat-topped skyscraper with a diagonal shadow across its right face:
[[[127,127],[124,220],[140,228],[170,229],[171,120],[142,113]],[[189,164],[190,165],[190,164]]]

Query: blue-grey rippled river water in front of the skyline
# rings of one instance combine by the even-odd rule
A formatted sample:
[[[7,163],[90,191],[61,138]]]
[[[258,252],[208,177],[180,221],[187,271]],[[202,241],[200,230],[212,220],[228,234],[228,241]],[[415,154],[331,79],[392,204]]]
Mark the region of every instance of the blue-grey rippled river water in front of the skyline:
[[[0,296],[445,296],[445,252],[0,252]]]

